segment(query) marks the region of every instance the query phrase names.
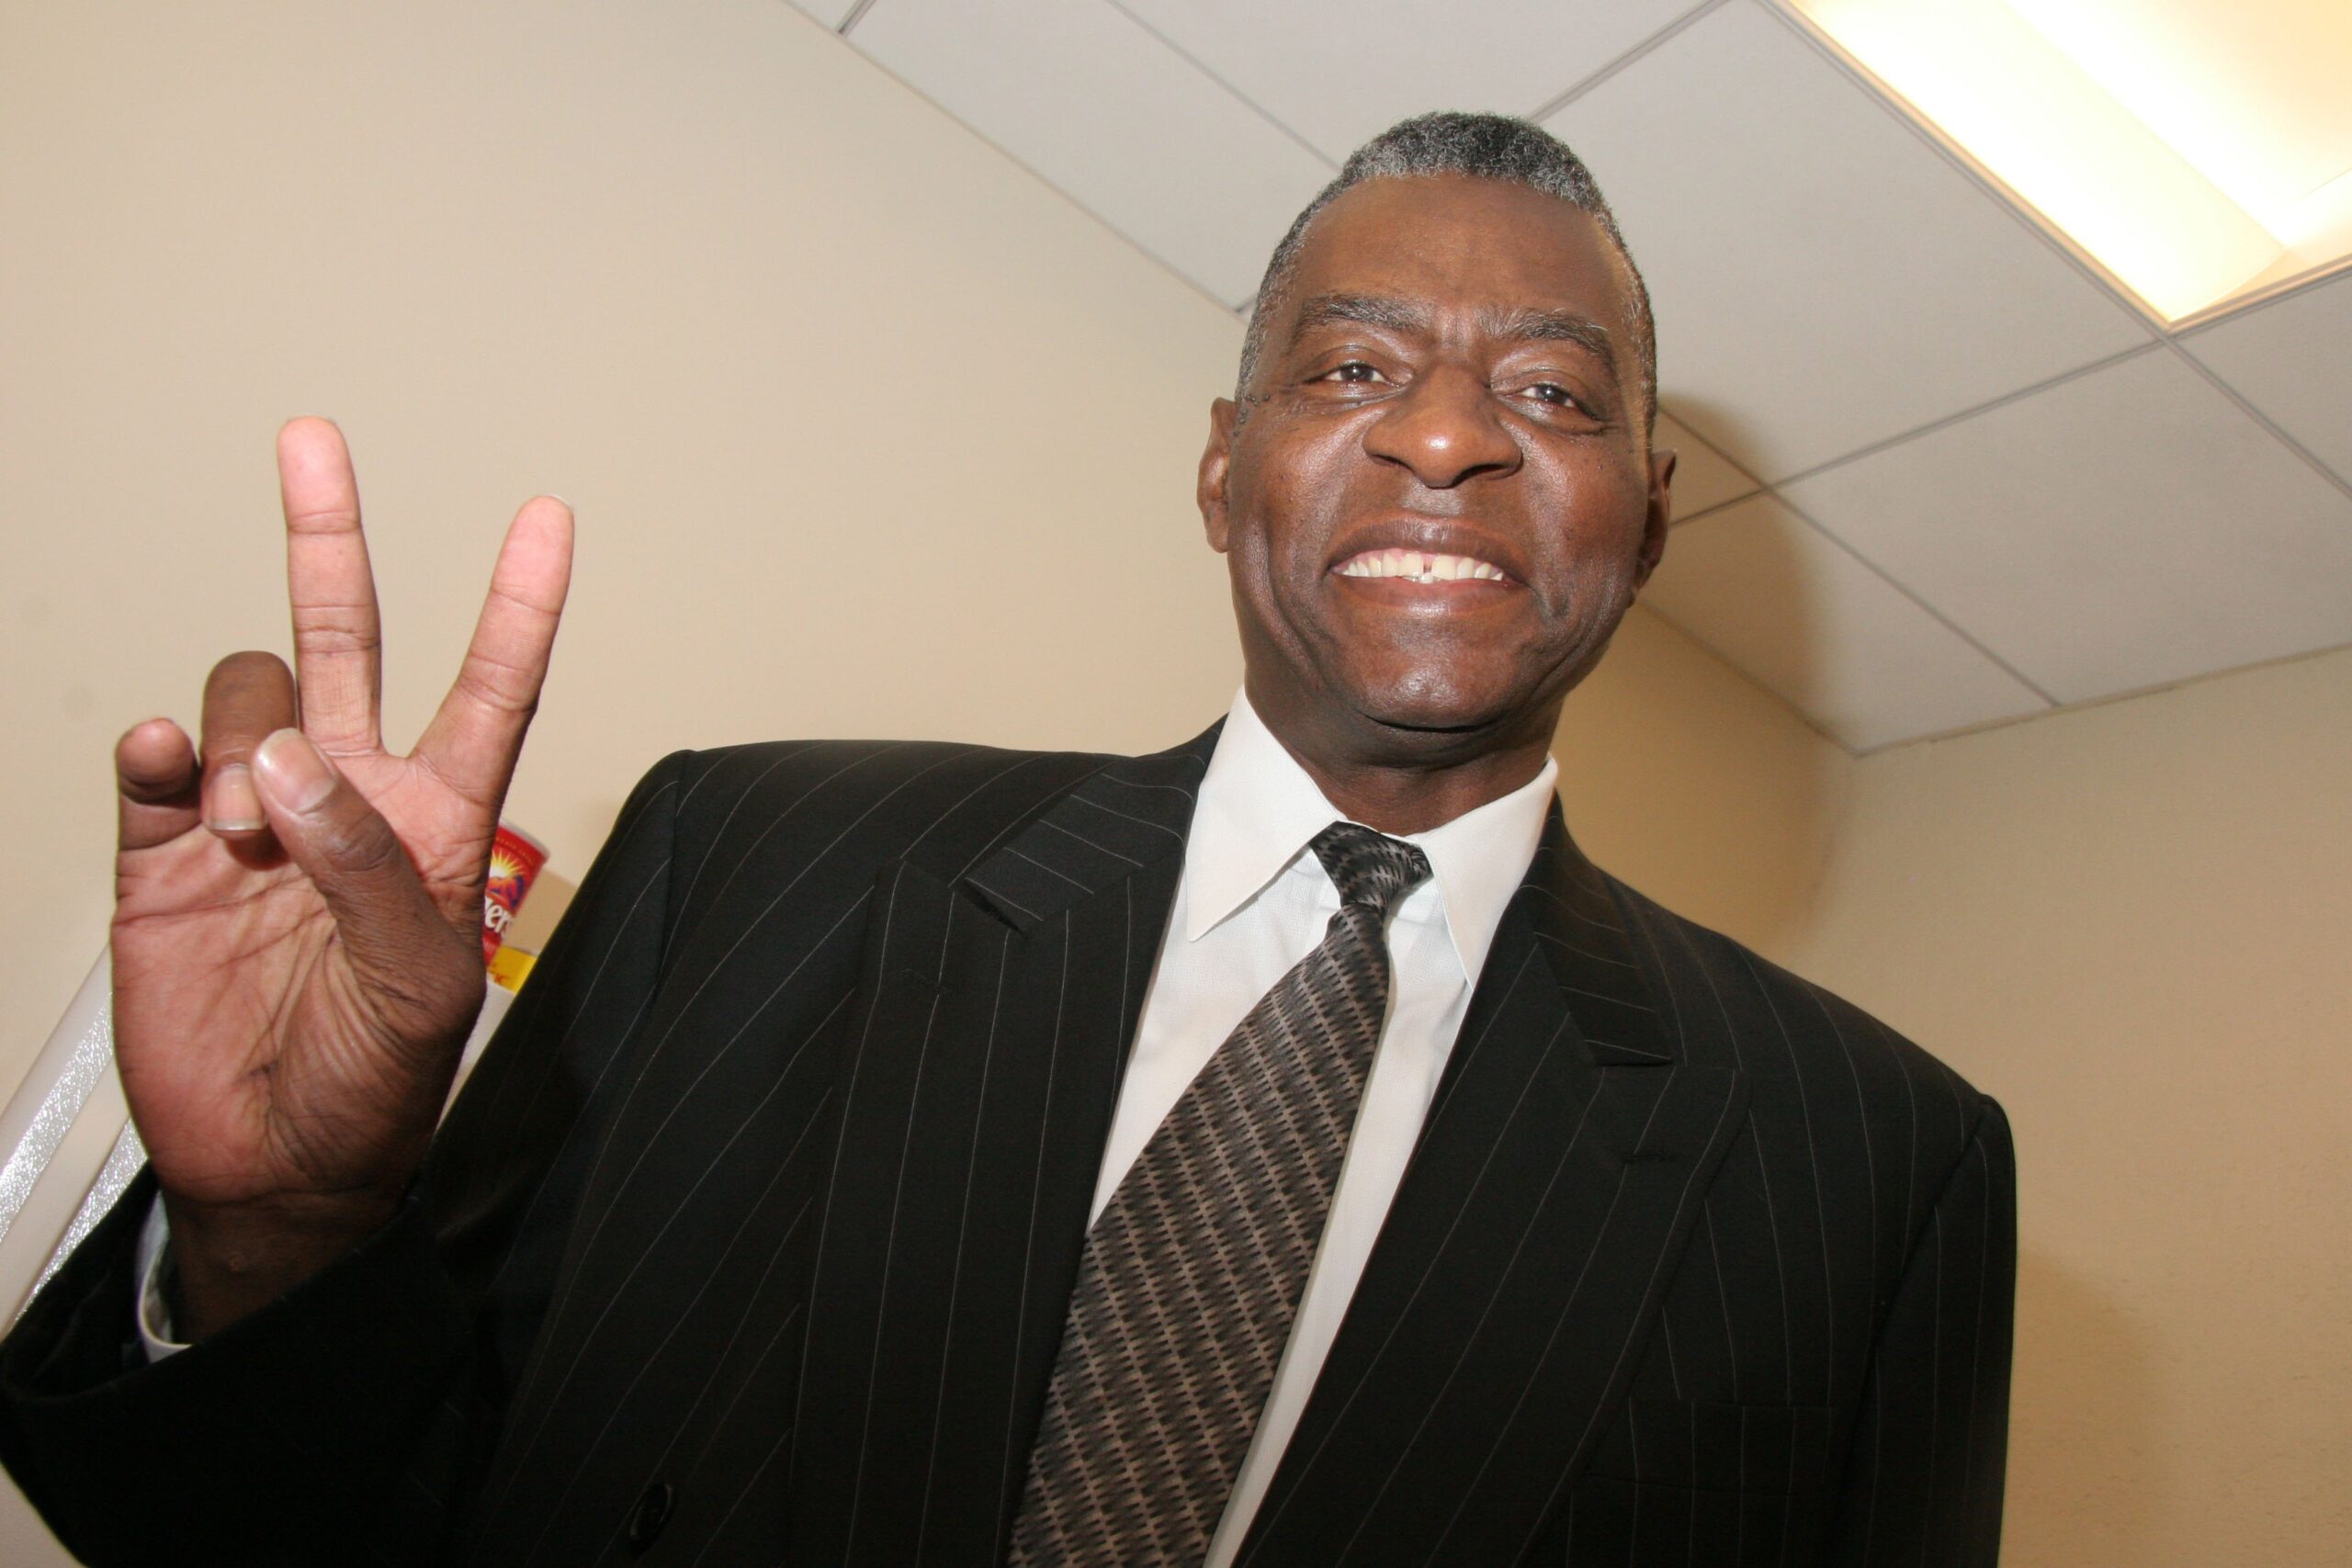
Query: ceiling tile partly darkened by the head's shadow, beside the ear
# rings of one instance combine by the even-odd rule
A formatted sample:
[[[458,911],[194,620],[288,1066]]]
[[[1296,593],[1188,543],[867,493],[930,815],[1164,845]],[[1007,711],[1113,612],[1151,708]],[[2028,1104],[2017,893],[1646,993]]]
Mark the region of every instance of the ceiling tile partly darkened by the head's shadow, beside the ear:
[[[1771,496],[1675,529],[1642,602],[1858,752],[2046,708]]]

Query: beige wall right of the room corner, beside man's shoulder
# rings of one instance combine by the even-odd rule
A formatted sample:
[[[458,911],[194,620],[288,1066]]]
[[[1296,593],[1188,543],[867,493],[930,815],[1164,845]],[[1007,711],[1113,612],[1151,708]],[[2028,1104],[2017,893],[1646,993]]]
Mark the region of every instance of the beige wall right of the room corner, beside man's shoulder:
[[[2004,1561],[2352,1563],[2352,651],[1865,757],[1816,922],[2016,1124]]]

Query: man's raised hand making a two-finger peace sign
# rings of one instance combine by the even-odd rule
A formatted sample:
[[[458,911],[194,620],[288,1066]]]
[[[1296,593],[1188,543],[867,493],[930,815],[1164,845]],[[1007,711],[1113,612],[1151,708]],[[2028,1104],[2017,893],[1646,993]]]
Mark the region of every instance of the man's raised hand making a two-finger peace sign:
[[[343,435],[278,433],[294,670],[230,654],[202,752],[115,748],[115,1060],[200,1338],[390,1218],[482,1004],[482,877],[572,578],[572,512],[506,531],[416,750],[379,733],[376,585]]]

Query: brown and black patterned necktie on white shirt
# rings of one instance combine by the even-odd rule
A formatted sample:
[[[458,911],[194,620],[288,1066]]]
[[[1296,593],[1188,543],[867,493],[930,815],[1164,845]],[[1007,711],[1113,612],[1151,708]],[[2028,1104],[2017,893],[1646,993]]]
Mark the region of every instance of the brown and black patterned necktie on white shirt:
[[[1183,1091],[1087,1234],[1011,1568],[1200,1563],[1265,1408],[1388,1016],[1421,851],[1331,823],[1315,952]]]

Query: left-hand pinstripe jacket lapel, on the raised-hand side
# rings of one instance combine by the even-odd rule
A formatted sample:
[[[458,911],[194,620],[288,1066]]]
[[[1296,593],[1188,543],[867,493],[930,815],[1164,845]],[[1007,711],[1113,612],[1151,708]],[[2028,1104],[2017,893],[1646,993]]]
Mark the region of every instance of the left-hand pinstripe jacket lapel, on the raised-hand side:
[[[800,1563],[995,1563],[1216,729],[884,870],[793,1432]]]

